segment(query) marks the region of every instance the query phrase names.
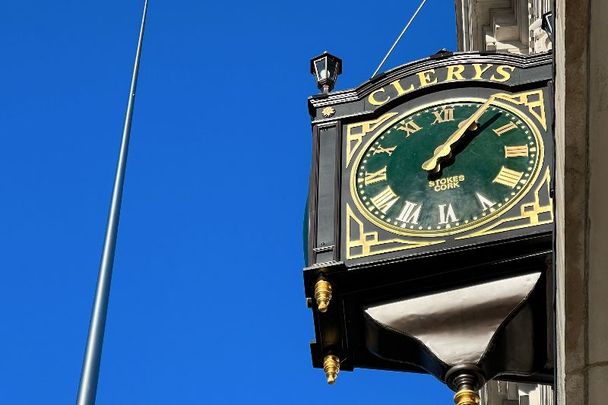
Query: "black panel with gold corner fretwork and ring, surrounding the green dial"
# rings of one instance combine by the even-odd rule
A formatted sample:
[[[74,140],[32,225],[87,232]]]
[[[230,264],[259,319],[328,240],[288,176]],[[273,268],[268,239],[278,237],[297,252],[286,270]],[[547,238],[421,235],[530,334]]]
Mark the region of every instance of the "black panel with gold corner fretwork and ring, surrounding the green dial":
[[[553,222],[551,198],[552,156],[551,139],[547,132],[547,111],[545,89],[524,90],[505,93],[504,88],[464,87],[459,89],[437,89],[436,91],[411,99],[385,110],[382,115],[367,121],[347,122],[344,125],[344,147],[342,162],[341,217],[343,219],[342,258],[357,263],[381,260],[403,255],[425,254],[431,251],[457,249],[459,247],[496,242],[520,235],[550,232]],[[515,198],[506,202],[496,212],[483,218],[471,220],[451,229],[434,229],[416,232],[387,226],[379,218],[370,215],[356,193],[357,168],[367,148],[394,124],[395,120],[410,111],[419,111],[429,105],[449,102],[449,100],[481,103],[493,94],[508,94],[510,98],[493,105],[505,109],[520,118],[529,128],[530,135],[538,148],[533,171]],[[505,97],[507,98],[507,97]],[[405,113],[403,111],[406,111]],[[369,128],[369,131],[360,130]],[[487,130],[486,130],[487,131]],[[357,142],[361,140],[360,142]],[[545,146],[547,145],[547,146]],[[430,151],[429,151],[430,153]],[[462,152],[463,154],[466,153]],[[549,158],[546,155],[549,154]],[[505,166],[507,168],[507,166]],[[440,180],[442,177],[439,177]],[[445,177],[443,177],[445,178]],[[517,186],[519,187],[519,185]],[[449,191],[448,191],[449,193]],[[424,202],[422,202],[424,204]],[[543,225],[546,227],[543,228]],[[433,248],[430,248],[433,246]]]

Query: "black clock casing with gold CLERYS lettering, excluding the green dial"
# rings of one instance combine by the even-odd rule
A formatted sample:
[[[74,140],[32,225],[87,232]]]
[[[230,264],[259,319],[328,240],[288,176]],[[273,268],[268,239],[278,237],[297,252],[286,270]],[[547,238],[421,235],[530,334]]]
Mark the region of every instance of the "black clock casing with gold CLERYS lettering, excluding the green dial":
[[[416,233],[387,226],[357,201],[359,162],[374,140],[401,117],[451,102],[481,105],[495,95],[500,97],[493,105],[518,116],[539,149],[530,180],[495,214],[471,226]],[[370,344],[384,345],[390,353],[397,343],[390,338],[370,343],[362,308],[541,272],[539,287],[525,309],[536,320],[534,330],[527,324],[521,327],[533,337],[513,343],[512,332],[505,328],[496,349],[488,353],[488,359],[494,360],[484,363],[483,371],[490,378],[551,380],[548,331],[553,321],[545,297],[551,291],[554,226],[552,100],[551,54],[475,52],[440,53],[385,72],[355,89],[309,98],[313,153],[303,275],[310,305],[315,307],[319,280],[333,286],[327,312],[313,310],[315,367],[323,368],[324,357],[332,353],[343,359],[343,370],[416,371],[442,379],[445,365],[416,342],[399,341],[401,352],[392,359],[371,353]],[[521,321],[517,319],[512,325]],[[503,364],[504,350],[514,344],[521,353]],[[377,353],[386,353],[383,350]]]

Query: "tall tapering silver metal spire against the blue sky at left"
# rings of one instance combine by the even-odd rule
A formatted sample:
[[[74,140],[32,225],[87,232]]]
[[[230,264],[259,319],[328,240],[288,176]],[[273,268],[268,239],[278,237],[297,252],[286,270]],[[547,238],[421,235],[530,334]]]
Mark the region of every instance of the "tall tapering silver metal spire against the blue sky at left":
[[[127,152],[129,149],[129,137],[131,135],[131,120],[133,117],[133,105],[135,103],[135,90],[137,88],[137,75],[139,73],[139,60],[144,39],[144,28],[146,25],[146,14],[148,12],[148,0],[144,0],[144,10],[141,18],[139,30],[139,40],[135,53],[135,63],[133,65],[133,76],[131,77],[131,89],[129,91],[129,102],[127,113],[122,131],[122,141],[120,153],[116,167],[116,177],[112,190],[112,202],[110,203],[110,213],[106,237],[103,244],[99,276],[97,279],[97,290],[95,291],[95,301],[91,314],[91,324],[89,325],[89,337],[87,339],[87,349],[82,365],[80,376],[80,386],[78,387],[77,405],[94,405],[97,394],[97,382],[99,380],[99,364],[101,361],[101,349],[103,346],[103,335],[106,326],[108,312],[108,300],[110,297],[110,283],[112,281],[112,267],[114,265],[114,252],[116,250],[116,235],[118,233],[118,221],[120,218],[120,204],[122,201],[122,189],[125,179],[125,169],[127,165]]]

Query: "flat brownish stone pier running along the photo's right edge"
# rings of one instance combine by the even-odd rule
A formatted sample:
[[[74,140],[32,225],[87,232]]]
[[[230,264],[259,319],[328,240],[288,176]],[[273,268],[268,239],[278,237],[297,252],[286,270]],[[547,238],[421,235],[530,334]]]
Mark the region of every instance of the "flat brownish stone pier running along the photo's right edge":
[[[556,1],[557,392],[608,398],[608,2]]]

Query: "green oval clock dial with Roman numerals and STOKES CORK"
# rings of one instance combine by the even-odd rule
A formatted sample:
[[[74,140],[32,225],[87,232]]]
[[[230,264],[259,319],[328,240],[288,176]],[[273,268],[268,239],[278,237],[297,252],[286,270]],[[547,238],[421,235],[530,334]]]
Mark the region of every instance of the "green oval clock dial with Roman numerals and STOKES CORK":
[[[484,102],[435,104],[380,130],[359,155],[351,179],[361,212],[391,232],[440,236],[491,221],[521,199],[542,166],[542,138],[520,111],[502,102],[486,108]],[[476,124],[452,142],[476,112]],[[450,142],[450,153],[437,159],[440,170],[424,169]]]

